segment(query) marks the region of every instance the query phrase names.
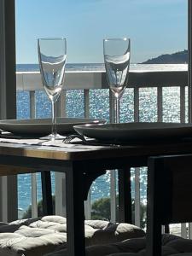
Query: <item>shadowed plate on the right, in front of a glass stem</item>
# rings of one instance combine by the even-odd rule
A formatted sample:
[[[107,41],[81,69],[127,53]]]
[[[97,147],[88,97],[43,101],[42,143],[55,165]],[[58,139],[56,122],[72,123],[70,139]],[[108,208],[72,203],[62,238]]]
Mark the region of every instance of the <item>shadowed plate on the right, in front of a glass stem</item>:
[[[192,124],[180,123],[77,125],[74,130],[85,137],[119,143],[192,137]]]

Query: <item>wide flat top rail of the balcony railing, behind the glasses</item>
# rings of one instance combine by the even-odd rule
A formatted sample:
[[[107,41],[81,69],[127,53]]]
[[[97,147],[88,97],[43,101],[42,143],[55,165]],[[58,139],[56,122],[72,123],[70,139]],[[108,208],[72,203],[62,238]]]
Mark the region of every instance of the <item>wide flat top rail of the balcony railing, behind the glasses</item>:
[[[17,90],[44,90],[39,72],[16,72]],[[66,90],[108,89],[104,71],[67,71]],[[186,86],[187,71],[131,71],[128,87]]]

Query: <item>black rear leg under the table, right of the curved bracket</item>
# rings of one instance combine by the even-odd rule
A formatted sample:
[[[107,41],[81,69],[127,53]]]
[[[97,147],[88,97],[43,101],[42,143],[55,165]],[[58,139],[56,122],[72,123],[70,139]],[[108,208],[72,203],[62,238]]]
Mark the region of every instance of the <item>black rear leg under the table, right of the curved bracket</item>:
[[[132,224],[131,214],[131,168],[118,170],[119,176],[119,222]]]

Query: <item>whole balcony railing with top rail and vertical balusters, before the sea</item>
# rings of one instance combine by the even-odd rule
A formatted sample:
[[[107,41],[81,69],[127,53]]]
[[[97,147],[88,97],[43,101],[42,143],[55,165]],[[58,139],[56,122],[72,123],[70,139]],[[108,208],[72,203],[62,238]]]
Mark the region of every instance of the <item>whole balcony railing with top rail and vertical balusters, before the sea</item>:
[[[143,90],[154,90],[155,105],[156,105],[156,118],[155,121],[164,121],[172,119],[166,117],[164,113],[164,102],[165,93],[164,90],[167,88],[174,87],[178,94],[179,110],[177,111],[177,121],[187,121],[188,109],[187,109],[187,84],[188,74],[187,70],[171,70],[172,66],[167,66],[164,70],[137,70],[131,71],[129,77],[129,85],[133,99],[133,120],[140,121],[141,105],[143,103]],[[44,90],[41,82],[40,73],[38,72],[22,72],[16,73],[17,79],[17,90],[29,91],[30,94],[30,118],[36,118],[36,98],[35,92],[37,90]],[[84,95],[84,117],[90,117],[90,90],[91,89],[105,89],[108,90],[108,83],[106,75],[101,71],[86,71],[86,72],[67,72],[65,78],[65,90],[62,90],[61,99],[58,102],[58,116],[66,116],[66,91],[67,90],[83,90]],[[113,122],[113,96],[109,92],[109,120]],[[172,97],[172,96],[171,96]],[[145,99],[148,101],[148,97]],[[174,104],[174,101],[172,101]],[[144,108],[144,107],[143,107]],[[143,120],[143,119],[142,119]],[[135,168],[135,224],[140,225],[140,168]],[[116,208],[116,177],[115,172],[110,172],[111,182],[111,219],[115,221],[115,208]],[[61,191],[62,185],[61,177],[55,178],[57,183],[55,196],[56,196],[56,213],[63,213],[63,207],[61,207]],[[32,217],[36,217],[38,214],[37,210],[37,181],[36,175],[32,174]],[[59,203],[60,202],[60,203]],[[85,203],[86,218],[90,218],[90,198]],[[186,228],[182,226],[182,236],[187,236]]]

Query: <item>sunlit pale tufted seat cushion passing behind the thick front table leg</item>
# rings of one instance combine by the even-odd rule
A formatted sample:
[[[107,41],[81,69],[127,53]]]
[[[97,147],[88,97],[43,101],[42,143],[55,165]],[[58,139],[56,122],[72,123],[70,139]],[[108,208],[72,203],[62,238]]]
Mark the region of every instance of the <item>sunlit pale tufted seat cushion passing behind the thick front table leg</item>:
[[[145,232],[134,225],[112,224],[102,220],[85,221],[84,230],[87,246],[145,236]],[[66,218],[46,216],[0,223],[0,255],[43,256],[66,246]]]

